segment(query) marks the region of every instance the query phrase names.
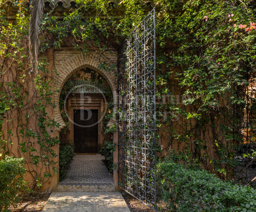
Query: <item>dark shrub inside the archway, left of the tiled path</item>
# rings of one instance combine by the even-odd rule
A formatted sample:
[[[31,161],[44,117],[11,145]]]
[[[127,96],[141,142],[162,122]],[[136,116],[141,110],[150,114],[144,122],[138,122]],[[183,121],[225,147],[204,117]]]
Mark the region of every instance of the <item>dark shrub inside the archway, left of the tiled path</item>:
[[[74,156],[75,153],[73,144],[65,144],[60,146],[60,181],[66,177],[68,164]]]

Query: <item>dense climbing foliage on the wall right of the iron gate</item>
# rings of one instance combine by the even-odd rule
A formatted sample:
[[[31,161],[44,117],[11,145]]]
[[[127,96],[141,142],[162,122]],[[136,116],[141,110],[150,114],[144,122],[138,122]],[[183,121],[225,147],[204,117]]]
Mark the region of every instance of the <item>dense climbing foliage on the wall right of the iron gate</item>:
[[[155,3],[158,95],[170,99],[159,104],[161,137],[169,138],[162,148],[229,178],[235,144],[244,142],[242,110],[253,113],[243,98],[255,83],[253,1]]]

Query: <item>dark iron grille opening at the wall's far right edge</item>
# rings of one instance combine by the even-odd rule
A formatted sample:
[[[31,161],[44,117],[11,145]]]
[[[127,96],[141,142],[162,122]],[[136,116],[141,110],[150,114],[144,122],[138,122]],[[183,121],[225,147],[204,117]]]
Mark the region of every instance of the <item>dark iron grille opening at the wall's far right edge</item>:
[[[235,168],[235,181],[243,185],[256,186],[256,75],[252,74],[248,85],[238,92],[244,104],[234,110],[237,120],[234,132],[238,134],[236,158],[240,162]]]

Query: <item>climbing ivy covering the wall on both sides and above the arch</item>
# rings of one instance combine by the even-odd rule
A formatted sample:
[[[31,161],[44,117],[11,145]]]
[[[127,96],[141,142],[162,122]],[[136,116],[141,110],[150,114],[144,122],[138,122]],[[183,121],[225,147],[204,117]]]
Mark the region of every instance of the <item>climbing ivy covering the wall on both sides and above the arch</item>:
[[[59,141],[50,135],[57,123],[48,110],[56,105],[52,99],[57,92],[55,76],[42,59],[38,72],[30,72],[28,7],[25,0],[11,2],[18,8],[15,21],[7,20],[6,1],[0,1],[1,152],[12,154],[11,146],[16,144],[7,144],[13,143],[14,134],[19,135],[19,156],[27,158],[35,186],[40,186],[50,179],[50,168],[57,170],[53,146]],[[44,14],[41,55],[65,45],[73,45],[84,55],[89,48],[120,50],[123,40],[149,11],[145,1],[121,1],[121,15],[109,8],[108,1],[76,2],[77,9],[62,18],[51,15],[53,11]],[[156,7],[162,156],[171,154],[177,161],[201,164],[229,178],[236,165],[235,145],[243,142],[241,115],[234,111],[245,108],[240,93],[255,77],[255,5],[250,0],[155,0],[150,6]],[[89,16],[89,10],[95,15]],[[113,62],[98,68],[110,72],[115,67]],[[34,117],[36,125],[32,124]],[[14,119],[18,127],[11,121]],[[43,163],[46,170],[38,173],[31,161]]]

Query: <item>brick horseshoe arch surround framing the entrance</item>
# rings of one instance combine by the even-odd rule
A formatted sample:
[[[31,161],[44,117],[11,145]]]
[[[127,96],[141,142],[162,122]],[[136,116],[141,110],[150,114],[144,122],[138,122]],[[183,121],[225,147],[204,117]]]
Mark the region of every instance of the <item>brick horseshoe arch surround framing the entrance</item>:
[[[59,92],[55,92],[54,94],[54,101],[56,102],[56,108],[54,108],[54,120],[59,124],[59,127],[55,129],[56,132],[60,132],[61,128],[65,127],[65,121],[62,119],[61,112],[60,112],[60,91],[72,73],[76,72],[80,69],[90,68],[95,72],[102,75],[107,83],[109,84],[112,93],[113,93],[113,114],[116,113],[118,108],[118,98],[117,98],[117,70],[107,71],[101,67],[102,63],[108,63],[109,58],[112,62],[117,61],[117,54],[113,55],[113,52],[104,52],[104,54],[98,54],[96,51],[90,52],[90,55],[83,55],[82,52],[78,54],[75,52],[66,51],[65,54],[61,52],[61,54],[56,56],[57,62],[55,63],[55,68],[57,72],[57,78],[54,80],[55,87],[59,90]],[[112,120],[109,121],[108,126],[115,125],[116,120],[115,116]],[[118,163],[118,132],[113,133],[113,143],[116,144],[116,151],[114,152],[114,163]],[[117,170],[114,170],[113,173],[113,180],[115,184],[115,188],[118,188],[118,173]]]

